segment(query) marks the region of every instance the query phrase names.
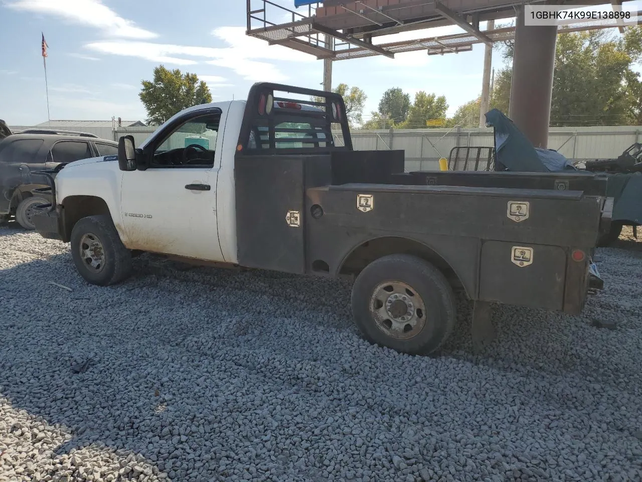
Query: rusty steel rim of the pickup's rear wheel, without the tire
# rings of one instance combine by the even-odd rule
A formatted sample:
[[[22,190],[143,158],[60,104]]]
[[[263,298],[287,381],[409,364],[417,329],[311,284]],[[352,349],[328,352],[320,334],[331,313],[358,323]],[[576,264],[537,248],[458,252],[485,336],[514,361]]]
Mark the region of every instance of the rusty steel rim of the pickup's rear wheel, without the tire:
[[[379,283],[370,297],[370,315],[387,336],[410,340],[426,326],[426,303],[403,281]]]

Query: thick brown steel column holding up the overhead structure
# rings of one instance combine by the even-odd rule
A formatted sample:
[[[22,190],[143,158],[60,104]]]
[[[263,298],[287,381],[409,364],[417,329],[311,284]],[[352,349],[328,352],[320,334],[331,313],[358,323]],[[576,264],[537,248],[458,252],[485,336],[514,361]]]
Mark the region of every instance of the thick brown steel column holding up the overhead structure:
[[[535,147],[548,147],[557,26],[525,26],[517,7],[508,117]]]

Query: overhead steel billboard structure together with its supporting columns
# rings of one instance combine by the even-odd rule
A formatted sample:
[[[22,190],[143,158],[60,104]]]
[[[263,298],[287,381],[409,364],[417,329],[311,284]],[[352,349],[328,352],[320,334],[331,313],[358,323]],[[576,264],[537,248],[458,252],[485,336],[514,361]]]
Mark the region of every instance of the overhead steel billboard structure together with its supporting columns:
[[[482,93],[488,93],[492,44],[515,39],[508,114],[533,145],[545,148],[559,30],[555,25],[526,26],[525,5],[555,4],[563,9],[600,5],[618,10],[625,1],[630,0],[296,0],[295,4],[306,5],[307,12],[302,13],[271,0],[247,0],[246,33],[271,45],[323,59],[326,91],[331,90],[336,60],[372,55],[394,58],[397,53],[421,50],[428,55],[443,55],[471,51],[474,44],[483,43]],[[630,20],[642,23],[641,12],[632,17]],[[515,27],[494,28],[494,21],[508,18],[516,19]],[[485,31],[480,30],[482,21],[490,24]],[[381,39],[395,33],[455,25],[465,33],[417,39],[408,36],[389,43]],[[604,19],[566,25],[564,31],[618,27],[622,31],[621,22]],[[374,42],[377,37],[380,41]],[[486,94],[482,99],[482,109],[488,107],[488,98]]]

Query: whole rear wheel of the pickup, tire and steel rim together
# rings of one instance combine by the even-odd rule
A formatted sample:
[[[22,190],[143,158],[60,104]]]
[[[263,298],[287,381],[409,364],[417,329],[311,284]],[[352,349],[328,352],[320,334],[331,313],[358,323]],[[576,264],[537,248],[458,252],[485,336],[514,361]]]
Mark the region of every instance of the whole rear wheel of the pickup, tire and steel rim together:
[[[365,339],[410,355],[435,352],[455,326],[455,294],[446,277],[409,254],[367,265],[354,281],[351,303]]]

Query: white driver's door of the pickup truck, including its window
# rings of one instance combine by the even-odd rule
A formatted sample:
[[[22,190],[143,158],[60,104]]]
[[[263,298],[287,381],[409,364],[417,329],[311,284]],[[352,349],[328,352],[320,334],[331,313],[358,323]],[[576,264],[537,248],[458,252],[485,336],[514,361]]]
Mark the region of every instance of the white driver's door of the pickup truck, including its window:
[[[223,261],[216,227],[221,115],[187,112],[144,147],[146,170],[123,173],[126,247]]]

